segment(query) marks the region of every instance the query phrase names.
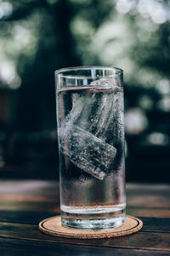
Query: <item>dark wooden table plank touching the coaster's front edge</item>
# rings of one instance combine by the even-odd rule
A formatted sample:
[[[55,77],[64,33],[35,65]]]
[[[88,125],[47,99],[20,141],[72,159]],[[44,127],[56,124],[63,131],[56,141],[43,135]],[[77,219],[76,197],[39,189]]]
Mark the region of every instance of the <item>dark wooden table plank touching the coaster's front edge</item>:
[[[86,244],[100,247],[127,247],[140,249],[157,249],[166,250],[170,252],[170,234],[157,232],[143,232],[139,231],[130,236],[114,237],[108,239],[94,240],[77,240],[69,238],[60,238],[42,234],[33,224],[14,224],[14,223],[0,223],[0,237],[17,238],[20,240],[34,240],[56,243],[64,242],[69,244]]]

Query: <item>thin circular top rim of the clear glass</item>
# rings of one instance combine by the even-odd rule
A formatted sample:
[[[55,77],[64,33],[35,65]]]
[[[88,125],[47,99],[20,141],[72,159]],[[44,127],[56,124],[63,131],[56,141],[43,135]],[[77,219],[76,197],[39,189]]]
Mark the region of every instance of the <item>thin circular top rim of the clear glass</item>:
[[[107,67],[107,66],[79,66],[79,67],[63,67],[59,68],[54,71],[55,75],[58,75],[59,73],[66,73],[69,71],[80,71],[80,70],[90,70],[90,69],[104,69],[104,70],[114,70],[115,74],[122,74],[123,70],[119,67]]]

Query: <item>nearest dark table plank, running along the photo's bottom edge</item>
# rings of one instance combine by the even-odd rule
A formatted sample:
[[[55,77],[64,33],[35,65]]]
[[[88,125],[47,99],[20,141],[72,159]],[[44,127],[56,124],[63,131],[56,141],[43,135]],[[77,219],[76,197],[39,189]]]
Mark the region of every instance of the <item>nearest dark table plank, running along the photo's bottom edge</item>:
[[[1,255],[12,255],[12,256],[161,256],[169,255],[169,251],[159,251],[151,249],[131,249],[131,248],[117,248],[117,247],[96,247],[93,245],[75,245],[75,244],[65,244],[65,242],[54,243],[42,241],[29,241],[29,240],[18,240],[12,238],[2,238],[1,237]]]

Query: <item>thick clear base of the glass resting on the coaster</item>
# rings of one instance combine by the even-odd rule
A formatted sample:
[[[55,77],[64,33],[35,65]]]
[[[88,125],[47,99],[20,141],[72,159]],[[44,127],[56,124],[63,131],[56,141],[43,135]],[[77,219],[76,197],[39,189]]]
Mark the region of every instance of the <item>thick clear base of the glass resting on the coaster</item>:
[[[118,212],[114,211],[109,213],[105,212],[95,214],[74,214],[73,212],[61,212],[61,223],[66,227],[76,229],[102,230],[117,228],[124,224],[125,220],[126,214],[124,209]]]

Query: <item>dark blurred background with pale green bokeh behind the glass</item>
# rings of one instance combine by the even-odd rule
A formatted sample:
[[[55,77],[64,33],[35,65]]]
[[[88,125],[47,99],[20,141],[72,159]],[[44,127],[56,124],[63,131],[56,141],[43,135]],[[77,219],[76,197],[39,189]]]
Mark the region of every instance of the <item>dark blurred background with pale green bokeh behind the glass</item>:
[[[59,177],[54,70],[124,70],[127,181],[170,181],[170,1],[0,0],[0,177]]]

